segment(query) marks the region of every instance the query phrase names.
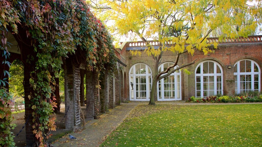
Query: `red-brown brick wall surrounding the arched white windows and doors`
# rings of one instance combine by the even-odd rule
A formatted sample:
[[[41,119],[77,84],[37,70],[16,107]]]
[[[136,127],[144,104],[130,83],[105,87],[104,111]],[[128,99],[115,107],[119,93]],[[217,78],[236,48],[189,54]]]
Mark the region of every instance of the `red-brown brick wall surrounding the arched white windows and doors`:
[[[187,100],[191,96],[195,96],[195,68],[196,66],[204,61],[204,60],[214,60],[219,63],[223,70],[223,93],[227,95],[234,95],[234,75],[233,75],[233,67],[228,69],[228,65],[233,65],[241,60],[241,59],[251,59],[254,60],[260,66],[260,71],[262,71],[262,43],[255,42],[252,43],[230,43],[230,44],[220,44],[217,49],[214,50],[214,53],[210,53],[209,55],[204,55],[203,52],[199,50],[195,50],[193,56],[191,54],[185,53],[180,55],[178,66],[182,64],[187,64],[195,61],[195,64],[186,67],[192,73],[187,75],[183,71],[181,72],[181,80],[182,80],[182,100]],[[152,75],[154,74],[154,60],[151,56],[146,55],[142,51],[141,56],[132,56],[129,51],[126,51],[126,64],[127,67],[124,68],[124,72],[127,73],[127,99],[129,100],[129,70],[136,63],[145,63],[149,65],[152,70]],[[176,54],[167,51],[163,53],[163,57],[161,63],[170,61],[174,62],[176,60]],[[160,64],[161,64],[160,63]],[[159,65],[160,65],[159,64]],[[261,75],[260,75],[261,76]],[[262,77],[262,76],[261,76]],[[260,84],[260,86],[262,83]],[[261,87],[262,89],[262,87]],[[155,98],[156,99],[156,98]]]

